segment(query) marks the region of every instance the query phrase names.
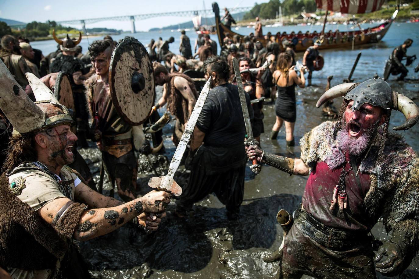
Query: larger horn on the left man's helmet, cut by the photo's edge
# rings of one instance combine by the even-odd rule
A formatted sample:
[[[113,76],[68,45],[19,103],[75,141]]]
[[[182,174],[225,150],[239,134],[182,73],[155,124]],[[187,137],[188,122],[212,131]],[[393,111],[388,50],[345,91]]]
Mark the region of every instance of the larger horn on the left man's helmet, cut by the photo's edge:
[[[45,122],[45,113],[29,99],[1,60],[0,108],[13,128],[21,134],[40,128]]]

